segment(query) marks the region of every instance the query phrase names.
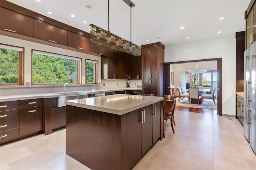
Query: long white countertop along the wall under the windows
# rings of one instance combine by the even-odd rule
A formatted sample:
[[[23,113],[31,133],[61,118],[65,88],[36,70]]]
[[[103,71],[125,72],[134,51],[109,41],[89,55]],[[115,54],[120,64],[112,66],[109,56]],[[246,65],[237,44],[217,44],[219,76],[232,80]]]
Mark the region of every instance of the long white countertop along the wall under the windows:
[[[93,94],[97,92],[114,92],[114,91],[125,91],[125,90],[141,90],[139,88],[113,88],[113,89],[100,89],[100,90],[84,90],[84,91],[73,91],[66,92],[65,94],[72,93],[82,93],[82,94]],[[23,95],[11,95],[11,96],[0,96],[0,102],[9,102],[16,100],[28,100],[28,99],[38,99],[38,98],[57,98],[63,92],[53,92],[53,93],[42,93],[42,94],[23,94]]]

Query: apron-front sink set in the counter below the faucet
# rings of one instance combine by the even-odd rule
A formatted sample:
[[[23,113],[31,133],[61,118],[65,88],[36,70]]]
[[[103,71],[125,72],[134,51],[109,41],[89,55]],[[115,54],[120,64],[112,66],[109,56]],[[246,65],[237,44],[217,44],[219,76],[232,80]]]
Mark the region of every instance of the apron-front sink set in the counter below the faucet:
[[[66,100],[75,100],[75,99],[83,99],[87,98],[87,94],[84,93],[55,93],[59,94],[58,97],[58,107],[66,106],[65,102]]]

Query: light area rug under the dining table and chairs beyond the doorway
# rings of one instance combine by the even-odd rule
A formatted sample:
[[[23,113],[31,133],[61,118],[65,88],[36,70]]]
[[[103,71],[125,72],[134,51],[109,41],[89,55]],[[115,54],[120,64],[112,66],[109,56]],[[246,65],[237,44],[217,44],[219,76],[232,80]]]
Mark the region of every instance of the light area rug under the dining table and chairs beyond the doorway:
[[[204,99],[204,102],[202,104],[189,104],[188,105],[188,98],[185,98],[184,100],[178,102],[178,99],[176,99],[176,106],[182,106],[182,107],[194,107],[194,108],[201,108],[201,109],[212,109],[217,110],[217,99],[215,99],[216,106],[214,105],[214,102],[212,99]]]

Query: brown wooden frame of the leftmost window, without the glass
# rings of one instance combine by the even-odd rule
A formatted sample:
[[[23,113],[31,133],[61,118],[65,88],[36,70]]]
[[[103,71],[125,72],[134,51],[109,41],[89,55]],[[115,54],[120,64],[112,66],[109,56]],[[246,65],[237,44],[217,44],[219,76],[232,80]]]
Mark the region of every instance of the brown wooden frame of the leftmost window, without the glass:
[[[24,85],[24,47],[18,47],[18,46],[2,44],[2,43],[0,43],[0,45],[5,45],[5,46],[9,46],[9,47],[15,47],[15,48],[22,49],[22,51],[18,51],[18,83],[9,83],[9,84],[0,84],[0,85],[1,86],[22,86],[22,85]]]

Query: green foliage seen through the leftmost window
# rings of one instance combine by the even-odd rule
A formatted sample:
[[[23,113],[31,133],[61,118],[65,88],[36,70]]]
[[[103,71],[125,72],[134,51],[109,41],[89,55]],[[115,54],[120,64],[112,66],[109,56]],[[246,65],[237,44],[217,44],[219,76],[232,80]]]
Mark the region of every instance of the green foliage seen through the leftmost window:
[[[0,84],[18,83],[18,51],[0,49]]]

